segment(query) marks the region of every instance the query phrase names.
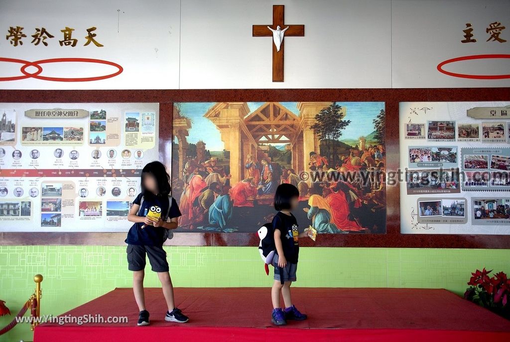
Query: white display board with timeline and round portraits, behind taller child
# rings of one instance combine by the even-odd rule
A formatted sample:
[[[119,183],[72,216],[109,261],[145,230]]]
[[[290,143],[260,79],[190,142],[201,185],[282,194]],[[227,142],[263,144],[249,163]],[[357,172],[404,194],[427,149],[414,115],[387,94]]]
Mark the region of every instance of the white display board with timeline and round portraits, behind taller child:
[[[157,103],[1,103],[0,232],[119,232],[158,160]]]

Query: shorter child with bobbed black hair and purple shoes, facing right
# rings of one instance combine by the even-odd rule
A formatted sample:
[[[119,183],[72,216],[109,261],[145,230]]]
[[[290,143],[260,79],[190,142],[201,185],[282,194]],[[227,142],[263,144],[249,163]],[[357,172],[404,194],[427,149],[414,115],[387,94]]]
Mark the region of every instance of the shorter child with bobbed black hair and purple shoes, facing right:
[[[296,281],[297,261],[299,256],[299,238],[309,236],[308,229],[299,234],[296,217],[291,213],[299,203],[298,189],[288,183],[280,184],[274,194],[274,209],[278,212],[273,218],[274,245],[276,253],[273,258],[274,283],[271,289],[273,312],[271,321],[275,325],[286,325],[287,320],[306,320],[307,315],[299,312],[292,304],[290,285]],[[284,281],[282,285],[282,281]],[[280,294],[285,309],[280,306]]]

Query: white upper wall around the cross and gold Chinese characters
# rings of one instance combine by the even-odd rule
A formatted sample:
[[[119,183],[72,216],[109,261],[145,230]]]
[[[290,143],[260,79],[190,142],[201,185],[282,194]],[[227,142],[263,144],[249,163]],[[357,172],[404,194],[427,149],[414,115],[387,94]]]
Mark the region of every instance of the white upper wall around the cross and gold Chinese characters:
[[[285,21],[305,25],[304,37],[285,38],[285,82],[271,81],[271,38],[252,37],[253,24],[272,22],[272,5],[285,5]],[[120,10],[119,12],[117,10]],[[486,42],[499,21],[505,43]],[[35,0],[0,3],[0,31],[24,27],[23,45],[0,36],[0,57],[35,61],[82,57],[113,61],[124,71],[93,82],[29,78],[0,89],[391,88],[500,87],[510,80],[469,80],[441,74],[446,59],[510,54],[510,0]],[[466,22],[476,43],[461,43]],[[118,25],[118,32],[117,32]],[[65,26],[77,46],[60,46]],[[96,26],[104,47],[83,46]],[[31,44],[35,28],[55,38]],[[5,34],[5,35],[4,35]],[[0,62],[0,77],[18,76],[22,64]],[[41,76],[87,77],[114,67],[90,63],[41,64]],[[510,74],[510,59],[458,62],[447,70]],[[28,68],[33,71],[35,67]]]

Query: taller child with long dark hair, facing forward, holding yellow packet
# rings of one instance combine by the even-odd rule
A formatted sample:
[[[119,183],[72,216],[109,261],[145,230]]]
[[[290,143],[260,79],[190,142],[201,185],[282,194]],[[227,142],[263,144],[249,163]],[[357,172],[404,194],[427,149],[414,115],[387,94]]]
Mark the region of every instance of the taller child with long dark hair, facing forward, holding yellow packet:
[[[145,308],[143,292],[145,255],[149,258],[152,271],[158,273],[163,287],[163,296],[168,306],[165,321],[186,323],[188,317],[174,304],[172,280],[168,273],[166,252],[163,250],[163,242],[167,236],[165,229],[177,228],[177,217],[181,216],[177,203],[170,197],[170,176],[165,165],[153,161],[142,169],[141,178],[142,192],[133,201],[133,207],[127,215],[128,221],[134,225],[125,239],[127,262],[129,270],[133,271],[133,292],[140,310],[138,325],[149,324],[149,312]],[[148,217],[149,211],[161,217]]]

